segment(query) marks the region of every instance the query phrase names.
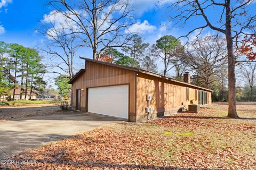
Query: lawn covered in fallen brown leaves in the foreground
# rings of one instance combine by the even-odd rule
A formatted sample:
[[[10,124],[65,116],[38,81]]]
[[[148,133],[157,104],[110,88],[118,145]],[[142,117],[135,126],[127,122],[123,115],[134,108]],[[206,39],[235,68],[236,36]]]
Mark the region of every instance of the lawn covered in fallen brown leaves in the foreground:
[[[201,112],[119,123],[75,135],[11,160],[13,169],[255,169],[256,105],[238,105],[243,119],[226,118],[219,103]]]

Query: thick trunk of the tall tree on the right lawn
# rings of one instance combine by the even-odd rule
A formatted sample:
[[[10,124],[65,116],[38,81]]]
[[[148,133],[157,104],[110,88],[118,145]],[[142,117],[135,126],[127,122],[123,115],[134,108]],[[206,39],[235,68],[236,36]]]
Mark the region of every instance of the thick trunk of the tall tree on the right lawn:
[[[228,117],[238,118],[236,112],[235,55],[233,51],[233,40],[231,38],[231,25],[228,25],[227,27],[230,28],[227,28],[226,33],[228,49]]]

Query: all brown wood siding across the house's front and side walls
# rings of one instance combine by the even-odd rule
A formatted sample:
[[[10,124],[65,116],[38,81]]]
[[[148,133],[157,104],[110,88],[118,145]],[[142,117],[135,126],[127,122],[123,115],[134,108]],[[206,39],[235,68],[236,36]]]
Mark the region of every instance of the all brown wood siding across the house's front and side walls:
[[[73,81],[73,107],[76,107],[76,90],[81,89],[81,110],[87,111],[88,88],[117,86],[129,84],[129,121],[147,120],[147,94],[151,94],[150,107],[154,108],[152,114],[177,112],[182,106],[198,104],[198,91],[207,89],[196,87],[192,84],[171,81],[153,73],[145,73],[136,70],[127,70],[122,67],[86,61],[85,71]],[[188,88],[188,99],[187,91]],[[207,91],[207,101],[211,104],[211,91]]]

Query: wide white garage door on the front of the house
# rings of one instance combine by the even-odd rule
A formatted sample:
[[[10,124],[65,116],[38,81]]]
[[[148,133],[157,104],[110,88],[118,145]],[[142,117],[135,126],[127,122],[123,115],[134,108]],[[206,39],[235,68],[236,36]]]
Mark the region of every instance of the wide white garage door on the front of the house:
[[[128,119],[129,86],[88,89],[88,112]]]

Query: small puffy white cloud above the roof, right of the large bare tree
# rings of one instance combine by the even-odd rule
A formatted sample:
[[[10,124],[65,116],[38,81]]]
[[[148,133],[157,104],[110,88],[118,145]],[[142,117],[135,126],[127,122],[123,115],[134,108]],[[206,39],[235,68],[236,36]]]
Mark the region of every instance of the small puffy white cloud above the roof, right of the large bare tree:
[[[147,20],[144,20],[142,23],[139,21],[131,25],[130,28],[125,30],[125,33],[129,33],[129,32],[146,33],[146,32],[152,32],[155,29],[156,27],[154,25],[150,25],[150,23]]]

